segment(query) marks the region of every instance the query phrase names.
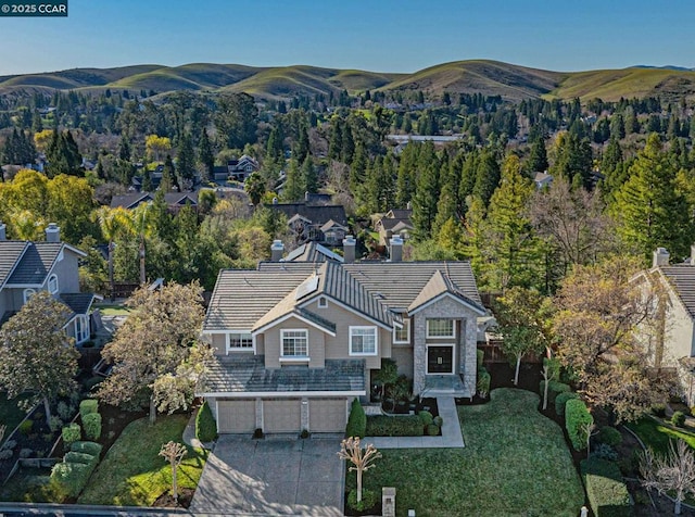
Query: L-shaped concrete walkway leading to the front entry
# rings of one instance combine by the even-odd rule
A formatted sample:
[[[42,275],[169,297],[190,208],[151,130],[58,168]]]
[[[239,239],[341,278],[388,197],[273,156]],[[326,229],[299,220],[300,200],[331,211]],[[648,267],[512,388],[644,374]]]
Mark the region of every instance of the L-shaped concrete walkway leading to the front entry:
[[[463,447],[464,437],[453,396],[438,396],[437,407],[443,419],[441,437],[365,437],[363,443],[377,449],[451,449]]]

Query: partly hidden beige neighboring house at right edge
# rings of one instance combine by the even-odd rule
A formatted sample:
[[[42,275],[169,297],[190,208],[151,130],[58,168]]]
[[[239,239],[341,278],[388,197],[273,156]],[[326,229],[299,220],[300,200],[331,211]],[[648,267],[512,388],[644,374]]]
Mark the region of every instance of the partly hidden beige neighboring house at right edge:
[[[658,248],[652,268],[633,281],[645,286],[657,307],[656,325],[640,333],[649,366],[672,376],[681,396],[695,405],[695,247],[681,264],[670,264],[668,251]]]

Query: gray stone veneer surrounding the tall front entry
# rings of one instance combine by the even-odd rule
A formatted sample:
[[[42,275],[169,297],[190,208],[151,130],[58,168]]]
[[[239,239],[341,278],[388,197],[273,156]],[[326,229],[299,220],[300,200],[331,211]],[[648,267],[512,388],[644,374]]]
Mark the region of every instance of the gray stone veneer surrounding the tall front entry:
[[[465,304],[451,297],[443,297],[412,316],[413,325],[413,392],[421,393],[427,376],[427,319],[451,318],[458,323],[456,328],[456,374],[463,374],[464,383],[476,391],[476,346],[478,315]],[[435,341],[430,340],[430,343]]]

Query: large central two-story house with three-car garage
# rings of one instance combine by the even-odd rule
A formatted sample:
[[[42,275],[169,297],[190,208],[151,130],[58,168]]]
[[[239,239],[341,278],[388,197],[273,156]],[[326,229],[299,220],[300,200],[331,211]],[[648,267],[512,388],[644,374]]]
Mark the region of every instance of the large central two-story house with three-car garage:
[[[477,319],[468,262],[262,262],[222,270],[203,324],[214,350],[198,394],[222,433],[342,432],[381,360],[414,393],[470,395]]]

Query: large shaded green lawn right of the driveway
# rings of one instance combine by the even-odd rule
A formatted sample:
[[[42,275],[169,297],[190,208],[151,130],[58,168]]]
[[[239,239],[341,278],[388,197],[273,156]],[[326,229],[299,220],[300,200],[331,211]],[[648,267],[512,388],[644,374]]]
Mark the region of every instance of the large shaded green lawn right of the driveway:
[[[563,431],[538,411],[534,393],[497,389],[462,406],[464,449],[383,450],[365,488],[396,488],[397,515],[576,516],[584,491]],[[348,472],[349,489],[356,484]]]

